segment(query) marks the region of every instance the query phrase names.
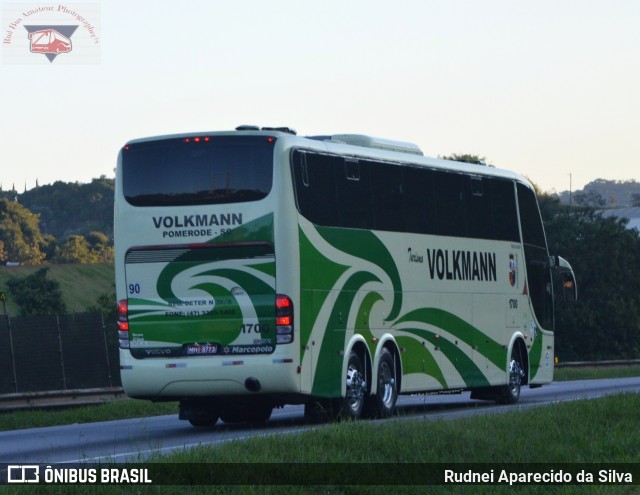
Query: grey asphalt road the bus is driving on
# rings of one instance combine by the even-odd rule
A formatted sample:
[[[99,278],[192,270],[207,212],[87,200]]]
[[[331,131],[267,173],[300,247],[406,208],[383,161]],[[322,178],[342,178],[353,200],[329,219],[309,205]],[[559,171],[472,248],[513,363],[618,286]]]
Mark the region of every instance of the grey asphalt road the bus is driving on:
[[[560,401],[640,392],[640,377],[557,382],[538,389],[523,388],[515,406],[475,401],[469,393],[400,397],[402,418],[454,419],[475,414],[497,414],[517,408],[539,407]],[[387,420],[390,421],[390,420]],[[0,464],[65,462],[138,462],[157,453],[210,445],[255,435],[287,434],[323,425],[307,425],[302,406],[276,409],[268,424],[256,427],[226,425],[194,428],[175,415],[73,424],[0,432]]]

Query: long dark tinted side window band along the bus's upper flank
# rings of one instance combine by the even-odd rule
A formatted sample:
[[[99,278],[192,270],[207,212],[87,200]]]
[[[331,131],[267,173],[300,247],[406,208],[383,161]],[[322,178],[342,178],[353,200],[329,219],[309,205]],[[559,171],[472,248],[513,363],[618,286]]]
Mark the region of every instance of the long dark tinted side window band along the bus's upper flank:
[[[520,240],[506,179],[304,150],[292,167],[298,210],[318,225]]]

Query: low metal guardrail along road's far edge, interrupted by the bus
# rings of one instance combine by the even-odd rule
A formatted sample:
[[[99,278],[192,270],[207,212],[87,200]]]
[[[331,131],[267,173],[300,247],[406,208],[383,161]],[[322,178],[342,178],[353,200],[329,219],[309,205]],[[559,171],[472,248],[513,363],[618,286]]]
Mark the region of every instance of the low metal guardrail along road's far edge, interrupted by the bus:
[[[640,359],[618,361],[572,361],[556,363],[556,368],[586,368],[607,366],[640,365]],[[122,387],[91,388],[82,390],[52,390],[48,392],[27,392],[21,394],[0,394],[0,412],[56,407],[104,404],[126,399]]]

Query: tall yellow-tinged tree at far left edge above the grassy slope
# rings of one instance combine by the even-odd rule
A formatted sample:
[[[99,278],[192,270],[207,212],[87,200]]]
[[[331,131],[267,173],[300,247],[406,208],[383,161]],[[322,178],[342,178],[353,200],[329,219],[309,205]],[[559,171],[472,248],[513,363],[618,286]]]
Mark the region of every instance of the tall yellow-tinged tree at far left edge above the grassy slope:
[[[0,240],[4,244],[4,261],[37,265],[45,260],[42,247],[46,240],[40,232],[39,216],[20,203],[0,199]]]

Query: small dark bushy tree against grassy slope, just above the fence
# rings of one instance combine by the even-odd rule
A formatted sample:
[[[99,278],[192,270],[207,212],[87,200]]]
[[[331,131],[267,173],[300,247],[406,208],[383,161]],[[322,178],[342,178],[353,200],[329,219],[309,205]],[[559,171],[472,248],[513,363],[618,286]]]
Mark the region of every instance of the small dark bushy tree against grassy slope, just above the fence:
[[[48,271],[48,268],[41,268],[27,277],[11,278],[7,281],[7,287],[16,304],[20,306],[22,316],[55,315],[66,312],[60,284],[55,280],[47,279]]]

